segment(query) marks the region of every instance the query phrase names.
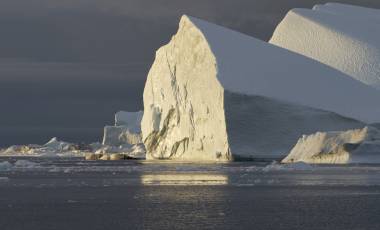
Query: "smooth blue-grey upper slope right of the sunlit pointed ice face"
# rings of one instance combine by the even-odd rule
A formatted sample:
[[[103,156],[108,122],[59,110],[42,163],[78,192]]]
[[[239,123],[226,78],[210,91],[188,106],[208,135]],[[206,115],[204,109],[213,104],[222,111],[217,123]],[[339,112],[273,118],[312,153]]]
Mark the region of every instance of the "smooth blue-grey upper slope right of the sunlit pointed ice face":
[[[207,40],[216,59],[217,79],[225,90],[332,111],[364,122],[380,120],[380,92],[371,87],[247,35],[196,18],[188,21]],[[376,60],[379,65],[380,59]]]

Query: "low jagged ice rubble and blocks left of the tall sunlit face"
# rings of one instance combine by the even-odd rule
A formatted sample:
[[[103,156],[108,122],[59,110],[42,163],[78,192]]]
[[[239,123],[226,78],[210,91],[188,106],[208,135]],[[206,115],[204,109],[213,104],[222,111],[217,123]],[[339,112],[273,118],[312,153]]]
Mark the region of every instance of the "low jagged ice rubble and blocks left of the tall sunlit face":
[[[115,114],[115,126],[104,128],[103,143],[73,144],[52,138],[44,145],[14,145],[0,156],[85,157],[87,160],[144,159],[141,140],[142,111]]]

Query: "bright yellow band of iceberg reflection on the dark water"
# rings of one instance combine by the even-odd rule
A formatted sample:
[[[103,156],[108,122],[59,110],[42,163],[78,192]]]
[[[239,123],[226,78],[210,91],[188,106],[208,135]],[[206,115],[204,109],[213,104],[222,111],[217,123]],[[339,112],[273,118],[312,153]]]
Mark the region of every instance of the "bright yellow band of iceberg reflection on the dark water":
[[[145,174],[143,185],[227,185],[228,177],[222,174]]]

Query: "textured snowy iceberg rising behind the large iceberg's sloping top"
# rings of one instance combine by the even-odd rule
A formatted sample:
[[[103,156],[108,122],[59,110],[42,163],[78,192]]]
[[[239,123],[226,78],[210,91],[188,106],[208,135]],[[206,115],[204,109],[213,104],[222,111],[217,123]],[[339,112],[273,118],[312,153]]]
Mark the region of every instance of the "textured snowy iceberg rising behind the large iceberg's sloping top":
[[[339,3],[293,9],[269,42],[380,89],[380,10]]]

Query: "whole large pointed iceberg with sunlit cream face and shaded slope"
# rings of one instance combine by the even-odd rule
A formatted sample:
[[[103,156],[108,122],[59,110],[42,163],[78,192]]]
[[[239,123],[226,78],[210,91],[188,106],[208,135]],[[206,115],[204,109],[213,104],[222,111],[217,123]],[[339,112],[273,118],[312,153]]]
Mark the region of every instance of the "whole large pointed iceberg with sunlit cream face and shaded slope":
[[[156,52],[141,128],[147,159],[230,160],[231,152],[284,151],[292,129],[289,136],[360,124],[321,110],[376,122],[379,99],[379,91],[317,61],[183,16],[177,34]],[[267,109],[268,127],[257,122],[265,112],[255,103]],[[261,144],[286,143],[260,146],[254,138],[260,133]]]

